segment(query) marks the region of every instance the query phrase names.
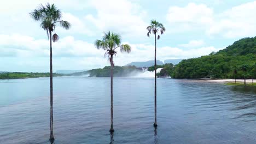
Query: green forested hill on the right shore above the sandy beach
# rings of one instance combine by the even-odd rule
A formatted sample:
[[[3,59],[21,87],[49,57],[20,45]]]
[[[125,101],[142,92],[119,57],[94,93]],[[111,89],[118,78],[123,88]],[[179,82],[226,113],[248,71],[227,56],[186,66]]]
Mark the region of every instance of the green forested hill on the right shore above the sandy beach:
[[[174,67],[177,79],[251,79],[256,75],[256,37],[243,38],[208,56],[185,59]]]

